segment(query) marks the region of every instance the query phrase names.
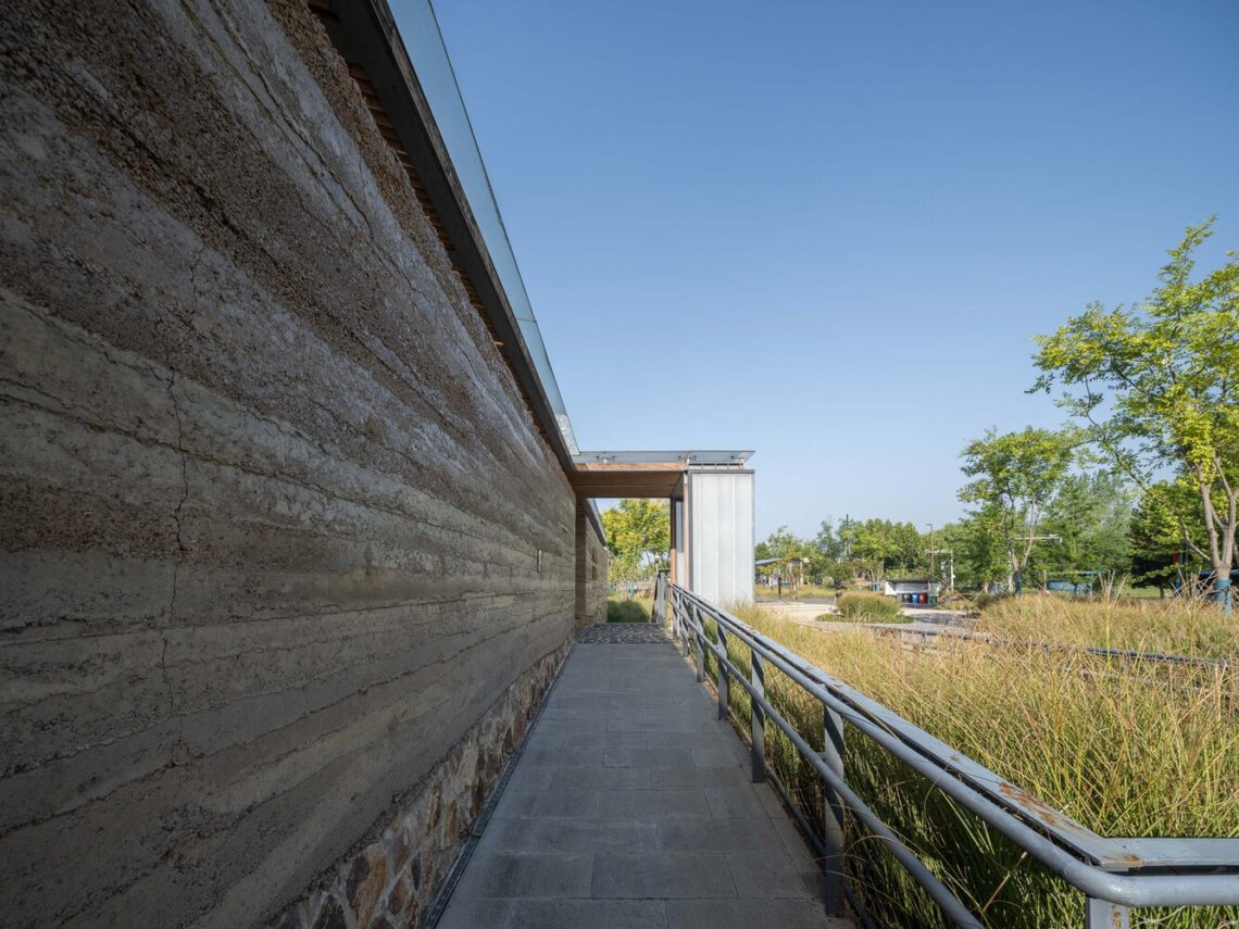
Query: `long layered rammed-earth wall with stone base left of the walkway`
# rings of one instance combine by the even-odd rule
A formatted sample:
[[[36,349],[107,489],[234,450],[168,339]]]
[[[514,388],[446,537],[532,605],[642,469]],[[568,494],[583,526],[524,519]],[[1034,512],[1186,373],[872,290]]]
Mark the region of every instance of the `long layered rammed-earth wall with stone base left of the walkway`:
[[[292,0],[11,4],[0,202],[4,923],[356,909],[374,839],[421,912],[576,504],[343,62]]]

